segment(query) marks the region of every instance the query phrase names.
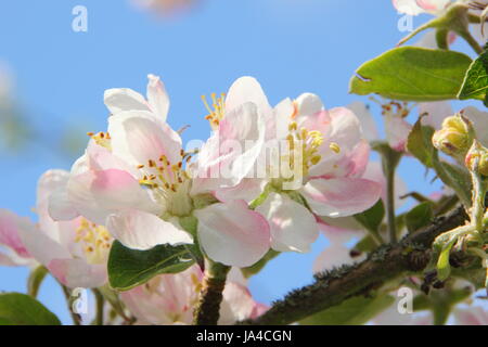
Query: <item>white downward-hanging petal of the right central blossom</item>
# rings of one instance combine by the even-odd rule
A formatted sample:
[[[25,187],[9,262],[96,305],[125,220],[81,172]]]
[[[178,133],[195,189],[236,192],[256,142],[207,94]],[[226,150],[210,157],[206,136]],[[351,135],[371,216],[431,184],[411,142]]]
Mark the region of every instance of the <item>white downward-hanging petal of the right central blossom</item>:
[[[270,193],[256,211],[269,222],[274,250],[307,253],[319,236],[312,214],[286,195]]]

